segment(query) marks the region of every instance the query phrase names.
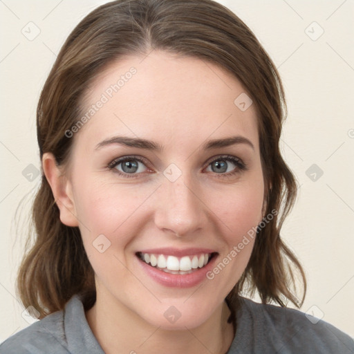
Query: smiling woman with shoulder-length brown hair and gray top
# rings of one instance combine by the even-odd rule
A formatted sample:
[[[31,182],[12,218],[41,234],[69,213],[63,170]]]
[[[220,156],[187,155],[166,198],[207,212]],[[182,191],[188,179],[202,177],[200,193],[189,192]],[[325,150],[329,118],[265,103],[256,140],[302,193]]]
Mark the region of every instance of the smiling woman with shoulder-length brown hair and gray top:
[[[279,234],[296,194],[284,116],[274,64],[220,4],[91,12],[37,109],[43,174],[18,288],[41,321],[1,353],[352,353],[285,307],[306,281]]]

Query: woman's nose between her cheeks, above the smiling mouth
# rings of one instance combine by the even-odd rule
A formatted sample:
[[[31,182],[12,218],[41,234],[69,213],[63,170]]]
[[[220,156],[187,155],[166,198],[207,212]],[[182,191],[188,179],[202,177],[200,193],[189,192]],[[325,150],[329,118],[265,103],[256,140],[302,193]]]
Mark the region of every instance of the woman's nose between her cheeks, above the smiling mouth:
[[[201,188],[187,178],[174,182],[164,180],[157,196],[155,225],[174,236],[188,236],[201,231],[207,224],[207,206]]]

